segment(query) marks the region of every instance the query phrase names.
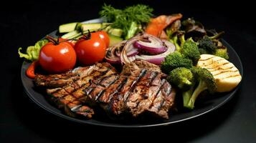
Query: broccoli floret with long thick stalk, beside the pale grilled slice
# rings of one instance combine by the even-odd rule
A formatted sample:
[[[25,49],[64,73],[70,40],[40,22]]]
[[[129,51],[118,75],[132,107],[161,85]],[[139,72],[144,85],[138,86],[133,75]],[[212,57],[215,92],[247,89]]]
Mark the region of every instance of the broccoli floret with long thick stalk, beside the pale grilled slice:
[[[196,87],[191,87],[193,89],[189,89],[189,91],[184,92],[184,107],[189,109],[194,109],[194,103],[196,102],[196,98],[199,96],[201,92],[204,90],[208,90],[209,93],[213,94],[217,89],[217,84],[212,76],[211,72],[207,69],[201,67],[193,67],[191,71],[194,75],[194,79],[196,80]]]

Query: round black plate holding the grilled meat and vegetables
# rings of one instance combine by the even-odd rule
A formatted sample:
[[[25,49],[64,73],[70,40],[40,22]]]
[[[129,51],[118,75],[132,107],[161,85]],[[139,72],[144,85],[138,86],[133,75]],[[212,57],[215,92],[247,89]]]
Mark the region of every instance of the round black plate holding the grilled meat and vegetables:
[[[99,22],[100,19],[93,19],[91,21],[86,22]],[[56,36],[57,31],[53,31],[51,34],[52,36]],[[239,69],[240,74],[243,75],[243,68],[242,68],[242,62],[240,60],[240,57],[237,55],[237,52],[234,51],[232,46],[230,46],[227,41],[222,40],[223,44],[227,46],[227,49],[229,51],[229,61],[231,61],[235,66],[237,66],[237,69]],[[231,99],[235,92],[237,92],[237,89],[239,86],[237,86],[232,92],[227,92],[224,94],[215,94],[214,98],[207,100],[204,102],[204,104],[200,105],[199,107],[196,107],[191,112],[179,112],[176,114],[172,114],[170,116],[170,119],[167,120],[155,120],[155,119],[141,119],[141,120],[129,120],[129,121],[113,121],[109,119],[105,114],[103,115],[96,115],[93,119],[77,119],[73,117],[67,116],[62,110],[57,109],[54,105],[49,103],[49,101],[45,98],[47,96],[46,94],[43,94],[42,91],[38,91],[37,89],[34,89],[33,80],[29,79],[25,71],[27,67],[29,66],[29,62],[24,61],[22,64],[22,84],[24,86],[24,90],[27,92],[27,95],[29,98],[32,99],[33,102],[39,105],[39,107],[42,107],[43,109],[47,110],[48,112],[55,114],[59,117],[62,117],[64,119],[69,119],[73,122],[79,122],[82,124],[94,124],[99,126],[105,126],[105,127],[153,127],[153,126],[161,126],[161,125],[167,125],[167,124],[174,124],[177,122],[184,122],[188,119],[192,119],[194,117],[202,116],[203,114],[206,114],[208,112],[213,111],[214,109],[217,109],[218,107],[221,107],[224,103],[229,101]]]

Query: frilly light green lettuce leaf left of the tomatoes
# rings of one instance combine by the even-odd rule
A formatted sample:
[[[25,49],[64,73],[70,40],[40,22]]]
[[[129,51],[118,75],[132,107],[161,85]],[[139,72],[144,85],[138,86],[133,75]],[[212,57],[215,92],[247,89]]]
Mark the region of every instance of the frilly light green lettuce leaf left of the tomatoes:
[[[44,46],[47,43],[48,43],[47,39],[43,39],[43,40],[37,41],[37,43],[34,44],[34,46],[28,46],[27,47],[26,54],[22,53],[22,51],[21,51],[22,47],[20,47],[18,49],[19,57],[25,58],[25,59],[27,59],[29,61],[35,61],[35,60],[38,59],[40,49],[42,48],[42,46]]]

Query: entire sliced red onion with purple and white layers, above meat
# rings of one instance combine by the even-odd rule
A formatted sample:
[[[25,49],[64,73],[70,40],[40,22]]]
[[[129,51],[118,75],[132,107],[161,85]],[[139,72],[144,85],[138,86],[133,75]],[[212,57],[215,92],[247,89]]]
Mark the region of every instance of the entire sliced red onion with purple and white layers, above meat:
[[[155,55],[140,55],[138,54],[138,50],[136,52],[134,49],[141,49],[142,51],[147,51],[151,54],[154,53]],[[164,58],[175,50],[176,47],[169,41],[161,41],[161,39],[150,34],[138,34],[125,43],[120,54],[120,61],[122,64],[129,64],[136,59],[143,59],[160,65]]]

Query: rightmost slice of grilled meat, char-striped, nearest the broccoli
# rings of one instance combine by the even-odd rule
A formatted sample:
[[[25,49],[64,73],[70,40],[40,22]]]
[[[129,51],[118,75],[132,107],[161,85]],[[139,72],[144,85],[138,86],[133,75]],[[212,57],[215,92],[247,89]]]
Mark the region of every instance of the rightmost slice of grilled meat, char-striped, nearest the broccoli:
[[[134,117],[143,112],[153,112],[158,117],[169,118],[168,112],[174,104],[176,92],[162,76],[157,71],[145,70],[134,84],[134,89],[131,88],[128,96],[124,97],[125,107]]]

